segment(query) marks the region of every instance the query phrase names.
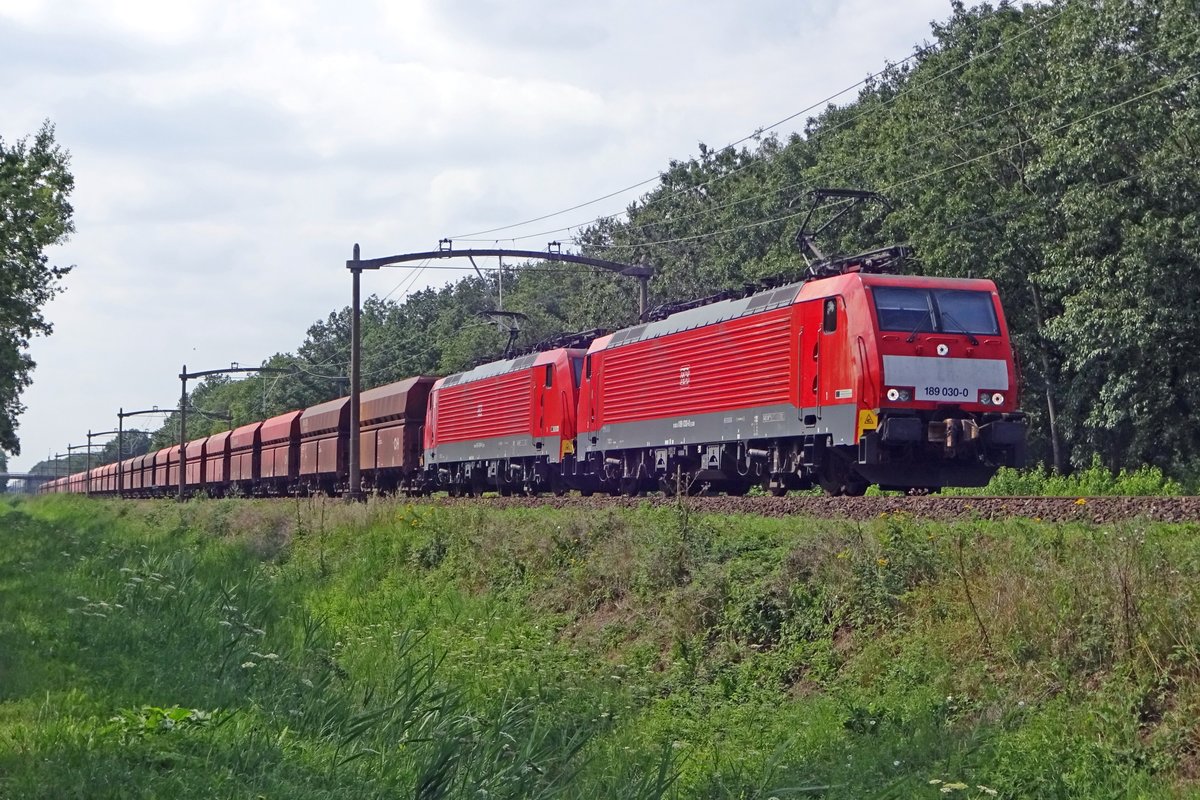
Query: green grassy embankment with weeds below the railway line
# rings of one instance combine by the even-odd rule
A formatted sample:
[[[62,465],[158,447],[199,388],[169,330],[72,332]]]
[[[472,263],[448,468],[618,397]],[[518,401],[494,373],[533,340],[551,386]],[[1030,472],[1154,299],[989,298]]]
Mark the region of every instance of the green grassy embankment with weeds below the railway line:
[[[1200,796],[1198,533],[8,499],[0,796]]]

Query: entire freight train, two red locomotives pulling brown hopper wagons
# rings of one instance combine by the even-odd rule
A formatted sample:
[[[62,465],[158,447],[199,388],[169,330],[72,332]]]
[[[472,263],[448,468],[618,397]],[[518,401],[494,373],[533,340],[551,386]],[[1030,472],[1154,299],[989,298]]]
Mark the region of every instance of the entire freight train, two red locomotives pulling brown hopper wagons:
[[[342,492],[772,494],[982,486],[1026,422],[991,281],[878,269],[895,253],[695,302],[440,378],[413,377],[49,482],[125,497]]]

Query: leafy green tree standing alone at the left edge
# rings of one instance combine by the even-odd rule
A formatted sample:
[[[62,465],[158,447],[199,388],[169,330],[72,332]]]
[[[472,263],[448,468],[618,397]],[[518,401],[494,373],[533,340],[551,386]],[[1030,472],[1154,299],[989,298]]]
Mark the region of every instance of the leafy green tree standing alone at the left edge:
[[[46,248],[74,231],[68,163],[49,122],[32,142],[6,145],[0,139],[0,450],[13,455],[20,453],[20,395],[35,366],[26,351],[29,341],[50,333],[42,308],[71,270],[46,257]]]

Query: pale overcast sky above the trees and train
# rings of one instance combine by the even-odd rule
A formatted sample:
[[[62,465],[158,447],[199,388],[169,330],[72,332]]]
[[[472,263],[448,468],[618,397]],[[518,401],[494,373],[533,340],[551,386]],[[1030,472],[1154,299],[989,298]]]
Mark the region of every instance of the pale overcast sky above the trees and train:
[[[0,0],[0,137],[54,122],[78,229],[52,253],[76,269],[32,348],[11,465],[115,427],[120,407],[173,405],[184,363],[294,350],[349,302],[354,242],[364,257],[433,249],[652,178],[907,58],[949,13],[949,0]],[[403,278],[366,273],[364,293]]]

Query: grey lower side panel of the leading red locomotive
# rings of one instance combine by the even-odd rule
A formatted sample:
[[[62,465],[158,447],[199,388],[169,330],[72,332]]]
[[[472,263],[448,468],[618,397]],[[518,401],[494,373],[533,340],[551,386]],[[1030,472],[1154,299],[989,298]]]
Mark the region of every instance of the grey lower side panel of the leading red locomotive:
[[[856,440],[857,426],[856,403],[826,405],[821,409],[767,405],[605,425],[599,431],[580,434],[580,452],[818,435],[833,437],[835,445],[848,445]]]

